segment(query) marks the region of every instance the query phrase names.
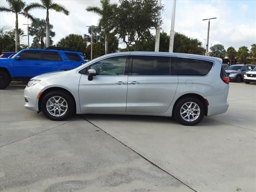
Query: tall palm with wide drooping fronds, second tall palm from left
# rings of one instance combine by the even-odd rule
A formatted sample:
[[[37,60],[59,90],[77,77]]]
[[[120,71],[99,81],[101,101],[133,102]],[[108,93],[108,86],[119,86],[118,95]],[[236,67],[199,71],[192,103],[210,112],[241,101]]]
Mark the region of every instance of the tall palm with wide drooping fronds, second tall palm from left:
[[[62,12],[65,15],[69,15],[69,11],[62,5],[52,2],[52,0],[41,0],[40,3],[30,3],[24,10],[29,11],[32,9],[45,9],[46,10],[46,47],[50,46],[50,22],[49,22],[49,10],[55,10],[56,12]]]

